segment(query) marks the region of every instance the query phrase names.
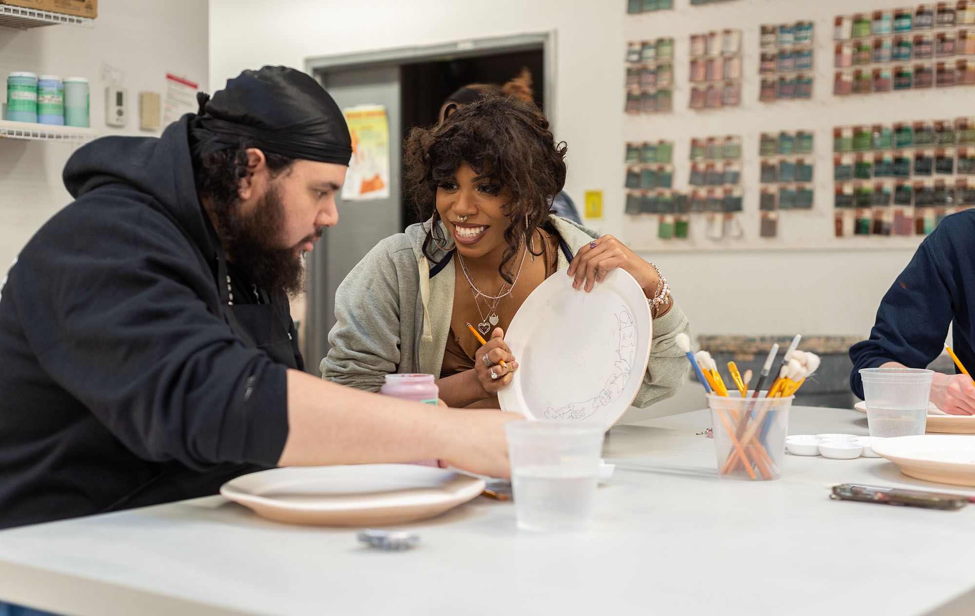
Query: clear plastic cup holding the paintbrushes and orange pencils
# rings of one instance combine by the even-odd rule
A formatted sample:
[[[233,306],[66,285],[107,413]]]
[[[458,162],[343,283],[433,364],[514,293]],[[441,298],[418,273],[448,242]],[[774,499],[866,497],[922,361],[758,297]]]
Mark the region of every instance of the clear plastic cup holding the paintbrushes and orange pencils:
[[[708,395],[719,476],[750,481],[782,477],[792,401],[792,396]]]

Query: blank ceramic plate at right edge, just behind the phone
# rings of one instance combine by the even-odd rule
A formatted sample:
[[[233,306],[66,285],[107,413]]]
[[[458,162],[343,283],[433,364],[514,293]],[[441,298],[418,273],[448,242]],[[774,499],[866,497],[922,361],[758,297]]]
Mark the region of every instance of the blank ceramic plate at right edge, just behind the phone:
[[[878,439],[874,453],[924,481],[975,485],[975,436],[918,435]]]

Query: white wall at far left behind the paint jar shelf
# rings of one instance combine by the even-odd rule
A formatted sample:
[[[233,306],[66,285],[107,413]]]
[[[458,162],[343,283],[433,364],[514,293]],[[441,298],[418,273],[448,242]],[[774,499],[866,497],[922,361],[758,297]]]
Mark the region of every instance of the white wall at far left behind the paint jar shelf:
[[[87,77],[92,127],[99,135],[158,135],[138,130],[137,94],[164,94],[172,72],[206,87],[207,3],[201,0],[100,0],[95,27],[0,28],[0,77],[25,70]],[[101,66],[124,71],[129,125],[106,129]],[[6,85],[4,85],[6,88]],[[35,231],[70,202],[60,174],[74,146],[0,138],[0,271]],[[2,278],[2,276],[0,276]]]

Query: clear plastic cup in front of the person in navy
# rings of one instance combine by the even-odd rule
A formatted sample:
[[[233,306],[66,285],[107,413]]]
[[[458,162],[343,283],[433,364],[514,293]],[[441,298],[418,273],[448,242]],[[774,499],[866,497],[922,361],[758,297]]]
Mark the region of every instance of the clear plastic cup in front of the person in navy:
[[[933,370],[867,367],[860,370],[872,437],[924,434]]]

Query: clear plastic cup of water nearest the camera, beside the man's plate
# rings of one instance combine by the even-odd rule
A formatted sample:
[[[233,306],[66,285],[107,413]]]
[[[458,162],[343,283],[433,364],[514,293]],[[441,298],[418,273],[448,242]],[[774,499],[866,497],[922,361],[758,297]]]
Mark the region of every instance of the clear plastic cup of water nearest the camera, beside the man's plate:
[[[571,530],[593,519],[605,426],[515,421],[504,426],[518,527]]]

